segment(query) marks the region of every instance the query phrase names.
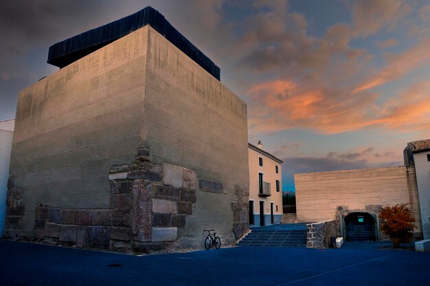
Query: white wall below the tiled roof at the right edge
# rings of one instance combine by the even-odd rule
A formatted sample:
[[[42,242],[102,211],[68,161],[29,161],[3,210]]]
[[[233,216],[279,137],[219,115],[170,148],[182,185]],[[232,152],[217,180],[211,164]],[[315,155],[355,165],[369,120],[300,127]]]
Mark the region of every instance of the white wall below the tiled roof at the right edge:
[[[430,154],[430,151],[414,154],[424,239],[430,239],[430,162],[427,161],[427,154]]]

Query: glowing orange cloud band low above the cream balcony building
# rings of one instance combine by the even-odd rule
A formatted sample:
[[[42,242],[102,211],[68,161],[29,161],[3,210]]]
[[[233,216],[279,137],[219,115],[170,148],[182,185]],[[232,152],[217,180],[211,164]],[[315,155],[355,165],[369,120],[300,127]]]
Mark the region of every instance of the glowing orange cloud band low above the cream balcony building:
[[[430,82],[375,104],[378,95],[348,94],[326,89],[302,89],[288,80],[251,87],[248,95],[251,133],[313,129],[332,134],[381,126],[394,130],[425,130],[430,124]],[[337,93],[340,93],[339,96]]]

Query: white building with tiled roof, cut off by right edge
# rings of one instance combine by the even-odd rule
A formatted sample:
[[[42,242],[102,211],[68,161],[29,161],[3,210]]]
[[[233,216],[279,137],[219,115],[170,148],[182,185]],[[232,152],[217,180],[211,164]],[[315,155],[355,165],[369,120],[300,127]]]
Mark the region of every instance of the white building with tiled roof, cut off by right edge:
[[[422,233],[430,239],[430,140],[409,142],[403,155],[405,165],[415,168]]]

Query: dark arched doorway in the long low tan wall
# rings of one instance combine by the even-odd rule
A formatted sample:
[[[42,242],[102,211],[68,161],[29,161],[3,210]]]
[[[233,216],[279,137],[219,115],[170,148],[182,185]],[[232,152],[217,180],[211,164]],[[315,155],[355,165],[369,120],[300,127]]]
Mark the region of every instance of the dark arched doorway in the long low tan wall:
[[[346,241],[376,241],[376,218],[368,212],[352,212],[344,219]]]

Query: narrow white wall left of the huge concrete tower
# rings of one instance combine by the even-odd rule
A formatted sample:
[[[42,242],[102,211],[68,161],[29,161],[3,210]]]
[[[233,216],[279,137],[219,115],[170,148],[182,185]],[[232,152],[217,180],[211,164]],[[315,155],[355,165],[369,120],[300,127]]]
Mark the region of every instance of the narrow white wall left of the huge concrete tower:
[[[0,122],[0,237],[6,215],[6,193],[8,192],[10,151],[14,135],[15,120]]]

